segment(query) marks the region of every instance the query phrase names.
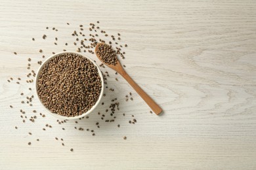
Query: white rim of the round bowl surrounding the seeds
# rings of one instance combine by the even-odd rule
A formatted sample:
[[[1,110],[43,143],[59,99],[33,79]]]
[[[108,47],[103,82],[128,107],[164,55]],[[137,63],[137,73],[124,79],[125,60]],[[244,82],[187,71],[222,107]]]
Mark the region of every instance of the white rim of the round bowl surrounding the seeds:
[[[73,54],[77,54],[79,56],[82,56],[84,58],[87,58],[89,59],[95,66],[96,68],[98,69],[98,75],[100,75],[100,80],[101,80],[101,84],[102,84],[102,88],[101,88],[101,92],[100,92],[100,96],[98,97],[98,101],[96,101],[95,105],[93,107],[91,107],[90,110],[88,110],[87,112],[84,112],[83,114],[79,115],[79,116],[73,116],[73,117],[68,117],[68,116],[61,116],[60,114],[56,114],[56,113],[53,113],[51,112],[51,110],[47,109],[47,107],[45,107],[45,105],[43,105],[43,102],[41,101],[40,97],[38,96],[38,93],[37,93],[37,83],[38,83],[38,78],[39,78],[39,73],[41,71],[41,69],[45,66],[45,64],[47,64],[52,58],[60,55],[60,54],[68,54],[68,53],[73,53]],[[98,67],[98,65],[96,65],[95,61],[93,61],[93,59],[85,56],[84,54],[80,54],[78,52],[70,52],[70,51],[67,51],[67,52],[59,52],[57,54],[54,54],[53,56],[47,58],[45,61],[43,61],[43,63],[41,64],[41,66],[39,67],[38,71],[37,71],[37,74],[36,74],[36,77],[35,77],[35,90],[36,90],[36,96],[37,96],[37,99],[39,99],[41,105],[43,105],[43,107],[45,108],[45,110],[47,110],[47,112],[49,112],[51,115],[55,116],[56,118],[60,118],[60,119],[66,119],[66,120],[74,120],[74,119],[78,119],[78,118],[82,118],[84,116],[86,116],[87,114],[89,114],[90,112],[93,112],[93,110],[96,108],[96,106],[98,105],[98,103],[100,103],[100,99],[102,98],[102,95],[103,95],[103,90],[104,90],[104,80],[103,80],[103,76],[102,76],[102,73],[100,71],[100,68]]]

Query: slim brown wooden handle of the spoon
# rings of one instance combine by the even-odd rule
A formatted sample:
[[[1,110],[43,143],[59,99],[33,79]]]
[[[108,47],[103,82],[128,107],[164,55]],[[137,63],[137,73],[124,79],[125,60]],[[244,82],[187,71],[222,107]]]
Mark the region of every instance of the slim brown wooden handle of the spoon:
[[[140,97],[144,99],[153,112],[155,112],[157,115],[161,113],[161,107],[156,104],[156,102],[146,92],[144,92],[144,90],[140,88],[140,86],[131,78],[131,76],[127,75],[125,71],[122,71],[120,75],[123,76],[127,82],[129,82],[129,84],[140,95]]]

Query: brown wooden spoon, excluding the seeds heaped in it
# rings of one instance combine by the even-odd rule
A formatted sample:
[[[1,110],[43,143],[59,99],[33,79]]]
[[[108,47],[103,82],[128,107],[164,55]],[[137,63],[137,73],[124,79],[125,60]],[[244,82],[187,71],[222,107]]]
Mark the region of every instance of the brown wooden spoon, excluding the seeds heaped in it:
[[[102,59],[100,58],[100,56],[98,55],[97,51],[98,51],[98,46],[100,44],[104,44],[104,43],[98,43],[95,47],[95,54],[98,57],[98,59],[100,59],[100,61],[102,61]],[[112,64],[108,64],[105,63],[104,61],[102,61],[102,63],[104,63],[105,65],[108,65],[108,67],[114,69],[117,73],[119,73],[121,76],[123,76],[123,78],[125,78],[125,80],[127,80],[127,82],[129,82],[129,84],[133,87],[133,89],[140,95],[140,97],[142,99],[144,99],[144,101],[146,101],[146,103],[148,104],[148,106],[158,115],[161,113],[161,107],[156,104],[156,102],[154,102],[154,100],[148,96],[147,93],[145,93],[140,86],[138,86],[138,84],[133,81],[133,79],[127,75],[127,73],[125,72],[125,70],[123,69],[121,63],[119,62],[119,60],[117,59],[117,64],[116,65],[112,65]]]

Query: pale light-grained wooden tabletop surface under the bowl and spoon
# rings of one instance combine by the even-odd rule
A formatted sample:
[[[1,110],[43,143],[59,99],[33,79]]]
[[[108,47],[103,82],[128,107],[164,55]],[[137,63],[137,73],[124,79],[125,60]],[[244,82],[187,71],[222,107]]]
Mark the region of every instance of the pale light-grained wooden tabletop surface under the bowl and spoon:
[[[110,69],[102,71],[115,91],[96,112],[117,97],[115,122],[95,112],[59,125],[37,99],[20,103],[35,93],[27,58],[37,70],[42,55],[75,50],[72,31],[97,20],[110,35],[121,33],[129,45],[121,61],[161,116]],[[256,169],[256,1],[1,1],[0,37],[0,169]],[[129,92],[134,100],[126,102]],[[28,118],[37,110],[35,122],[23,123],[20,109]],[[132,114],[137,124],[128,123]],[[45,124],[53,128],[43,131]]]

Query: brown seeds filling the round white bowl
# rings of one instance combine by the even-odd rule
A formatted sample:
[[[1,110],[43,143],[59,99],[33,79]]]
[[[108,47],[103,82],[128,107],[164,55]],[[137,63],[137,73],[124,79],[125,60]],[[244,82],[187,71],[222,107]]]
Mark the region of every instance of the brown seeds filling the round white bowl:
[[[39,72],[37,94],[43,105],[61,116],[79,116],[98,101],[102,82],[87,58],[68,53],[49,60]]]

